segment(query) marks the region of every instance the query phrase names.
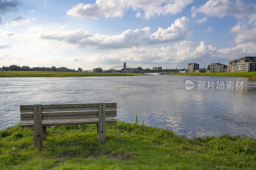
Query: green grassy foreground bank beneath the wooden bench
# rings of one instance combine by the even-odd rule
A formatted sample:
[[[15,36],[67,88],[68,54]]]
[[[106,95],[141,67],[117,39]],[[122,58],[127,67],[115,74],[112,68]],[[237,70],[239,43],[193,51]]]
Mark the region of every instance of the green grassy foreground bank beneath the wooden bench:
[[[97,141],[96,125],[49,127],[34,148],[33,128],[16,125],[0,131],[0,169],[256,169],[256,140],[246,136],[188,139],[118,121]]]

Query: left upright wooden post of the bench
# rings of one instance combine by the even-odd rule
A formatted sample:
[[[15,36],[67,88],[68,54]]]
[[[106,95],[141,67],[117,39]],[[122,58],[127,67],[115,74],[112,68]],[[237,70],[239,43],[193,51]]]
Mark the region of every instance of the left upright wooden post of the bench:
[[[43,144],[42,138],[42,105],[33,105],[34,110],[34,145],[40,147]]]

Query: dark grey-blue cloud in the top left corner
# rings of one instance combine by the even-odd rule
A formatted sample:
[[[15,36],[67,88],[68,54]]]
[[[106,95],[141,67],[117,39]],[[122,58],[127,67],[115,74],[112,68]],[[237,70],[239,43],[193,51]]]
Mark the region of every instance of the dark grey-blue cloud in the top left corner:
[[[6,1],[0,0],[0,23],[1,23],[1,16],[6,15],[7,12],[17,10],[17,7],[22,3],[17,0]]]

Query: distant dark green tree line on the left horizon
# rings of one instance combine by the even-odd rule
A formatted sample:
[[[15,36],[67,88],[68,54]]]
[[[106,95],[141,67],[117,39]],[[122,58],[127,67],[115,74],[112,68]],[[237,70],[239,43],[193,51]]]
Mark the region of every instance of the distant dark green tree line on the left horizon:
[[[2,69],[4,71],[75,71],[75,69],[68,69],[66,67],[33,67],[30,68],[29,66],[16,66],[16,65],[11,65],[9,67],[5,67],[3,66]],[[81,68],[79,68],[80,71],[82,70]]]

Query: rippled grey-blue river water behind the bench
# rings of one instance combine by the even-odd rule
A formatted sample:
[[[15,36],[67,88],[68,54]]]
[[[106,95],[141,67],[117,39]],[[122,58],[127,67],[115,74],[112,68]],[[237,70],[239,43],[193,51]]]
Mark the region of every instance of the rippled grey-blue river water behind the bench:
[[[195,83],[186,90],[185,81]],[[205,89],[196,89],[206,81]],[[243,89],[207,89],[208,81],[244,81]],[[154,75],[122,77],[0,78],[0,128],[20,120],[19,106],[116,102],[117,117],[168,128],[189,138],[256,137],[256,82],[242,77]]]

